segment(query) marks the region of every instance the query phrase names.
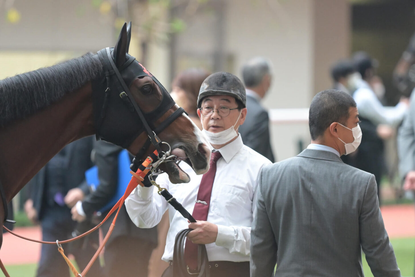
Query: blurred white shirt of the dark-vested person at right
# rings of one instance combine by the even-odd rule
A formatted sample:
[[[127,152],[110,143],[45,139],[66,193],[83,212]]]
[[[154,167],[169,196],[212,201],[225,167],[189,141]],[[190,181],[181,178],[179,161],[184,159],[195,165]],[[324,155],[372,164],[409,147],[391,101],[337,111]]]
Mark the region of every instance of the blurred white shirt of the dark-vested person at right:
[[[353,98],[356,101],[359,115],[370,120],[375,125],[388,124],[398,126],[407,109],[407,106],[403,103],[398,103],[394,107],[383,106],[365,81],[361,82],[361,86],[354,92]]]

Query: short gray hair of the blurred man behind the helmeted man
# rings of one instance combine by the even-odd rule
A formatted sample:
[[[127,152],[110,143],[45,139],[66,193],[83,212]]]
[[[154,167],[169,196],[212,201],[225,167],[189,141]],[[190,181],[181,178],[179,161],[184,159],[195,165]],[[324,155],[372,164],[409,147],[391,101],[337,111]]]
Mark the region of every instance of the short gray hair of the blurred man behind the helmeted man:
[[[245,87],[258,86],[267,74],[271,75],[271,62],[264,57],[252,58],[242,67]]]

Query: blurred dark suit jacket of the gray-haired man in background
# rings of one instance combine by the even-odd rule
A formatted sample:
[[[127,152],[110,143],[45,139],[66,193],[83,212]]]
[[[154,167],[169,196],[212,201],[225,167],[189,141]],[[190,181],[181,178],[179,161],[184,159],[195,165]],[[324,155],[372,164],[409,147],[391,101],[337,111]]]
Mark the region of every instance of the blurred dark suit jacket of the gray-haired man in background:
[[[243,125],[239,126],[243,143],[254,149],[262,156],[274,162],[269,136],[268,111],[261,106],[255,92],[247,89],[247,117]]]

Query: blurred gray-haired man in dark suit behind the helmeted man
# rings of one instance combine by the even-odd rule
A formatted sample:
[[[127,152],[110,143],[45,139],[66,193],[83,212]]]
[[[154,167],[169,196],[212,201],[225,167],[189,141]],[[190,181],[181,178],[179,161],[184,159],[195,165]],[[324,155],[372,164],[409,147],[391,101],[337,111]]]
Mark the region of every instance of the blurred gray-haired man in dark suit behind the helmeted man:
[[[243,143],[274,162],[269,137],[268,111],[261,106],[271,85],[271,64],[262,57],[249,60],[242,68],[242,77],[247,91],[247,118],[239,126]]]

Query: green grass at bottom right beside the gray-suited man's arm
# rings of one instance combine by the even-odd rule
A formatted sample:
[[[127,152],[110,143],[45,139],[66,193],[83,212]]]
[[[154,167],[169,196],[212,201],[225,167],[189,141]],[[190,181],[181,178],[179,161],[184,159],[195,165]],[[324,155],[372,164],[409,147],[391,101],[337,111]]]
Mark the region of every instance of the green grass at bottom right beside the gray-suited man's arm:
[[[415,238],[391,239],[396,261],[402,276],[414,276]],[[366,258],[362,255],[363,270],[366,277],[373,277]]]

